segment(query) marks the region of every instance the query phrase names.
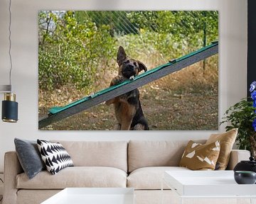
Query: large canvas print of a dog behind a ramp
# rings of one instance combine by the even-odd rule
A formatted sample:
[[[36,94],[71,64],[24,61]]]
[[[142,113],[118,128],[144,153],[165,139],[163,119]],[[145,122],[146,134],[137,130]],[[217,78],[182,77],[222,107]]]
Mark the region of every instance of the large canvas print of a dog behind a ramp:
[[[39,130],[218,130],[218,11],[39,11]]]

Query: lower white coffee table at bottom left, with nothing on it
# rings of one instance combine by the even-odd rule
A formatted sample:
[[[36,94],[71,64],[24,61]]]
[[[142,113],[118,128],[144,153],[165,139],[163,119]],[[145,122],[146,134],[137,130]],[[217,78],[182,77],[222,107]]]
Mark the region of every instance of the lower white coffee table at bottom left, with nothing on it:
[[[42,204],[134,204],[134,188],[65,188]]]

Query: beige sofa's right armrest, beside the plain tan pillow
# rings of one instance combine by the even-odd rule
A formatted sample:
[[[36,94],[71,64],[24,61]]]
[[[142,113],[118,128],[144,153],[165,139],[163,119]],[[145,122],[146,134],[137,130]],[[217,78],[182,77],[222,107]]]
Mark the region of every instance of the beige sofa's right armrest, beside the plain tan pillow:
[[[228,163],[228,170],[233,170],[235,165],[242,160],[248,160],[250,157],[250,152],[243,149],[232,149],[230,153],[230,161]]]

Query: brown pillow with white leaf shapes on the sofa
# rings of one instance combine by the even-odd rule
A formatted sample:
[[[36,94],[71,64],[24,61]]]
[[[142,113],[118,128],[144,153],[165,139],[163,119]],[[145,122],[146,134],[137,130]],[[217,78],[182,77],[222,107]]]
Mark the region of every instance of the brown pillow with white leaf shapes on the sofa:
[[[191,140],[184,150],[179,166],[191,170],[214,170],[219,154],[218,141],[202,145]]]

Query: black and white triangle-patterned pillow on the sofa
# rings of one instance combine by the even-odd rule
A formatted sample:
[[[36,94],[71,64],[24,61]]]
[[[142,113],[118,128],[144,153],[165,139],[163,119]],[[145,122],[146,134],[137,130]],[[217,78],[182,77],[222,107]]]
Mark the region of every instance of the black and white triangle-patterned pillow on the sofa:
[[[73,161],[60,143],[53,143],[46,140],[37,140],[38,149],[46,164],[46,169],[52,174],[57,174],[61,169],[74,166]]]

